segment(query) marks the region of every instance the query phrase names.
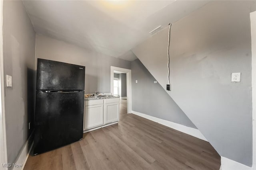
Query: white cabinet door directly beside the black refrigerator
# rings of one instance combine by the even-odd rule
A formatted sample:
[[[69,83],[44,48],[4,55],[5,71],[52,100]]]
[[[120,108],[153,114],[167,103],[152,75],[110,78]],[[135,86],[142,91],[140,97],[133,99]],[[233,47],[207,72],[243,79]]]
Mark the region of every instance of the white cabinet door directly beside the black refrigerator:
[[[84,109],[84,130],[103,125],[103,104],[86,106]]]

